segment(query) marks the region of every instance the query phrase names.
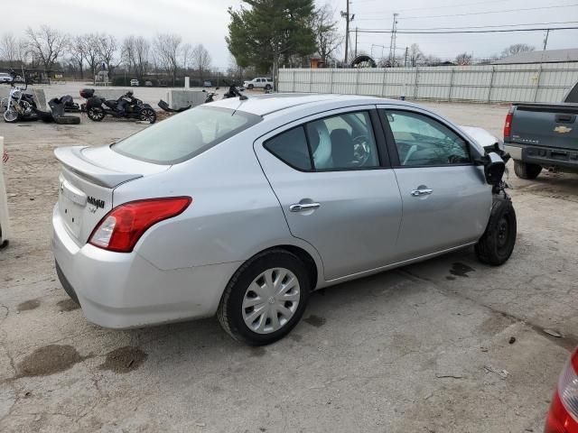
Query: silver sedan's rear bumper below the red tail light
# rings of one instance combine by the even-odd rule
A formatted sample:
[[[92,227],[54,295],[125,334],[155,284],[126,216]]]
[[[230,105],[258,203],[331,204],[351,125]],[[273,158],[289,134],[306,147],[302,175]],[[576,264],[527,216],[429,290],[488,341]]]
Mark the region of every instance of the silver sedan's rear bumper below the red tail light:
[[[52,214],[52,252],[62,286],[78,297],[86,318],[101,327],[144,327],[215,314],[241,263],[163,271],[136,253],[79,245]]]

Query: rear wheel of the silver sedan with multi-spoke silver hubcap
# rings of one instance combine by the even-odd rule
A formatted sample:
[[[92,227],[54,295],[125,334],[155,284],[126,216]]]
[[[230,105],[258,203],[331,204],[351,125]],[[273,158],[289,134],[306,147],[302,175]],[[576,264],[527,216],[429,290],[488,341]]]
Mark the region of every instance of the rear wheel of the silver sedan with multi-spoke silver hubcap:
[[[267,291],[265,275],[282,284],[294,278],[296,285],[285,282],[288,289],[284,294],[275,294]],[[276,291],[273,286],[270,285]],[[228,281],[217,318],[221,327],[236,340],[247,345],[269,345],[286,336],[299,322],[310,292],[310,275],[303,262],[285,250],[268,250],[249,259]],[[248,304],[245,308],[244,303]]]

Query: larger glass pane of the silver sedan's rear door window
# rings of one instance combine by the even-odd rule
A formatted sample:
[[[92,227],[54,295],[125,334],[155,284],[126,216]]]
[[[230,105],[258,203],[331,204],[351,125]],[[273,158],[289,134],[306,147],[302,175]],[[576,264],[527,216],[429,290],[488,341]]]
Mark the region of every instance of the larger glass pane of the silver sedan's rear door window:
[[[379,166],[371,119],[367,111],[333,115],[306,124],[316,170]]]

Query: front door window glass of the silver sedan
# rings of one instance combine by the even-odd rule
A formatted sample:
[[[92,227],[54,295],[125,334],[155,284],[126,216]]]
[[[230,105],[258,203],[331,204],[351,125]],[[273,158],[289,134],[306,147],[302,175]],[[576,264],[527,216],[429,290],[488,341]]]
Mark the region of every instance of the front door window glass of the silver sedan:
[[[444,124],[409,111],[384,112],[396,142],[402,166],[470,163],[466,143]]]

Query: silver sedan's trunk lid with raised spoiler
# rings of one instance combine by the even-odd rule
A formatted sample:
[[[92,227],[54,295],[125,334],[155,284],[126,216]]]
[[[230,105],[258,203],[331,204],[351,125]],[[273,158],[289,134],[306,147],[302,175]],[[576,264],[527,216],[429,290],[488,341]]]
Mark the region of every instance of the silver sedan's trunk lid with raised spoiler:
[[[110,149],[61,147],[58,209],[64,226],[79,244],[86,244],[98,222],[117,206],[114,189],[125,182],[168,170],[170,165],[137,161]]]

